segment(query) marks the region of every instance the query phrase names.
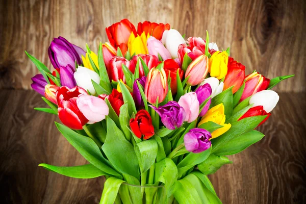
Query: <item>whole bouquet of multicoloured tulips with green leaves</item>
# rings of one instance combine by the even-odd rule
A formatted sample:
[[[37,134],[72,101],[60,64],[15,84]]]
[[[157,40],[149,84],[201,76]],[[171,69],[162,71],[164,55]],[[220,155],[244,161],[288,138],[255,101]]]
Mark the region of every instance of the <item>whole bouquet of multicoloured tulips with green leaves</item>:
[[[106,176],[100,203],[221,203],[207,175],[232,163],[264,135],[279,96],[272,80],[230,57],[230,48],[189,37],[169,24],[127,19],[106,28],[110,43],[86,52],[63,37],[48,48],[51,72],[34,90],[57,128],[89,162],[50,171],[79,179]]]

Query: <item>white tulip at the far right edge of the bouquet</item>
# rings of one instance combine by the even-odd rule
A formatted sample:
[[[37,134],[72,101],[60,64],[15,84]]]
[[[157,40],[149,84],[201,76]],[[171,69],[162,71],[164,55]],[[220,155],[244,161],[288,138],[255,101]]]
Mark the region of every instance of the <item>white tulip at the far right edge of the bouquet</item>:
[[[279,95],[272,90],[263,90],[252,95],[249,104],[255,106],[263,106],[267,113],[270,113],[276,106],[279,100]]]

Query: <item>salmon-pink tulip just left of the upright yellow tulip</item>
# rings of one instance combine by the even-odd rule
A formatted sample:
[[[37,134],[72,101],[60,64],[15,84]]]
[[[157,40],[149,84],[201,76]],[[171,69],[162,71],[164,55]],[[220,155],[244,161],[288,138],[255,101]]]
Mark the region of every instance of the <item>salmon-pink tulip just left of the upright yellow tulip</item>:
[[[200,55],[195,60],[193,60],[186,69],[185,79],[187,80],[187,85],[195,86],[200,84],[208,73],[208,57],[205,55]]]

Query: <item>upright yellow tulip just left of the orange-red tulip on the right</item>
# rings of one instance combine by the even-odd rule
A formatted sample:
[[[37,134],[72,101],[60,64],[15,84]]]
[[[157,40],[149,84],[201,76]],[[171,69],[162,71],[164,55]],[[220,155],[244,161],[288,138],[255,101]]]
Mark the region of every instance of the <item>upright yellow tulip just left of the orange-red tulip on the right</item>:
[[[225,51],[215,52],[209,59],[209,70],[211,77],[216,77],[218,80],[225,77],[227,74],[228,56]]]

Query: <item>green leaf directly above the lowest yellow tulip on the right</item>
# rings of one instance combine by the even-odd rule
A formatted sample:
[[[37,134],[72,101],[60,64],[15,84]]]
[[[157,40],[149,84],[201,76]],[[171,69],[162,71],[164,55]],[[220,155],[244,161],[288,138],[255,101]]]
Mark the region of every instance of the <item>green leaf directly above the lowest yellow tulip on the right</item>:
[[[226,118],[230,118],[233,114],[233,86],[222,91],[220,94],[212,98],[210,107],[217,106],[221,103],[224,105],[224,114]]]

